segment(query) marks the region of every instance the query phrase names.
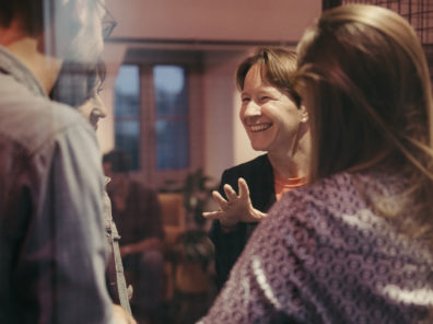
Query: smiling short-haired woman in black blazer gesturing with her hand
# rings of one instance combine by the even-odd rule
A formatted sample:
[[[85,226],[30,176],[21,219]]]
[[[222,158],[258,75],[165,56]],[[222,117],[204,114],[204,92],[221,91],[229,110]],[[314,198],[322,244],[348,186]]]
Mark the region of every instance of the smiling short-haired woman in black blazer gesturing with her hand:
[[[271,205],[307,182],[309,131],[291,81],[295,68],[296,55],[281,48],[259,49],[237,68],[241,121],[253,149],[267,154],[224,171],[213,193],[220,210],[203,213],[215,220],[210,238],[220,288]]]

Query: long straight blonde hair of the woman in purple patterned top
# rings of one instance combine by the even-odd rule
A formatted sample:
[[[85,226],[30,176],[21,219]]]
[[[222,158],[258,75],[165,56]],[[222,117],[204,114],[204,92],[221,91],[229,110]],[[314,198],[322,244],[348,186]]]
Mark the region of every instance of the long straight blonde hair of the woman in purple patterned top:
[[[311,178],[381,161],[410,180],[406,195],[417,208],[408,232],[433,245],[433,104],[413,28],[390,10],[349,4],[325,12],[297,49],[297,84],[311,103]]]

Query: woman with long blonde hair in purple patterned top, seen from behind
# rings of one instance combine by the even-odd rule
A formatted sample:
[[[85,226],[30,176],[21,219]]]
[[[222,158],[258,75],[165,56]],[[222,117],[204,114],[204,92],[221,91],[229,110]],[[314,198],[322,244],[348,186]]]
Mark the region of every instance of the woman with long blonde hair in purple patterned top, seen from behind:
[[[413,28],[379,7],[324,12],[296,84],[311,185],[261,221],[202,323],[432,323],[433,105]]]

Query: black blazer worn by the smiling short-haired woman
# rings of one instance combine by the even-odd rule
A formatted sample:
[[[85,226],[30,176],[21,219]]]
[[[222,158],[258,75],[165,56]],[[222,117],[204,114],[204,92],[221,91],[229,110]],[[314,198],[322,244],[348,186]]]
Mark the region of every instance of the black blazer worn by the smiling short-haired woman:
[[[267,212],[276,202],[272,165],[268,154],[225,170],[221,177],[220,194],[226,198],[223,186],[229,184],[238,193],[237,180],[245,178],[253,207]],[[230,270],[236,263],[257,223],[238,223],[236,229],[224,233],[218,220],[212,223],[209,236],[215,246],[216,286],[219,289],[227,280]]]

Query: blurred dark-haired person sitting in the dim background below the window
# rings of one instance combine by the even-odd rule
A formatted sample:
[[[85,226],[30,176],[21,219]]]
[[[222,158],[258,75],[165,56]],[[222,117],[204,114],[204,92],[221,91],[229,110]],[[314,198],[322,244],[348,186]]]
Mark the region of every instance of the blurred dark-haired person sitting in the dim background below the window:
[[[107,192],[113,219],[120,233],[120,254],[128,284],[132,284],[132,313],[138,321],[159,323],[164,292],[161,206],[157,194],[129,177],[130,158],[115,149],[103,158],[110,182]]]

